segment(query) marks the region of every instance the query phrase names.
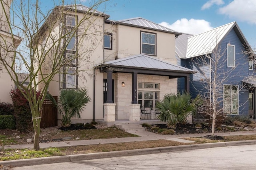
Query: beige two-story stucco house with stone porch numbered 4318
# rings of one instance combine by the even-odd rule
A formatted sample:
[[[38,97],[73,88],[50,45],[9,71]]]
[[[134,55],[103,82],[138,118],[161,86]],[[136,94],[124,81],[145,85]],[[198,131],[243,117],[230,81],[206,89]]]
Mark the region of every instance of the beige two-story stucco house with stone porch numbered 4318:
[[[80,22],[86,10],[87,7],[76,5],[74,12],[67,12],[66,21],[61,23],[72,27]],[[175,38],[180,33],[143,18],[112,21],[106,14],[98,11],[94,14],[97,33],[90,30],[95,26],[90,27],[84,38],[78,28],[64,54],[79,53],[78,63],[88,59],[86,70],[80,68],[86,63],[74,64],[74,70],[81,70],[78,74],[72,74],[73,68],[69,67],[65,74],[60,74],[60,80],[56,76],[49,86],[53,96],[58,96],[61,89],[88,88],[92,102],[82,111],[81,119],[72,119],[73,123],[102,119],[108,125],[116,120],[140,121],[140,107],[154,109],[155,102],[164,94],[177,92],[178,77],[185,77],[184,88],[189,91],[187,80],[194,71],[178,66],[175,58]],[[86,22],[83,24],[81,29],[86,27]],[[47,37],[48,31],[44,33]],[[94,36],[89,36],[90,33]],[[92,43],[97,45],[90,57],[83,55],[82,49]]]

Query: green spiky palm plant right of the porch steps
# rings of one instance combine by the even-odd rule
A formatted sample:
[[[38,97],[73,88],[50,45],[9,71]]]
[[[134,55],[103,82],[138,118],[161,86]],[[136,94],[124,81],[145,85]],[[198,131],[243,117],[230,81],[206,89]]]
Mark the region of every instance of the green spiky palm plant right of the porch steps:
[[[187,92],[168,93],[156,103],[156,108],[160,111],[157,118],[160,121],[166,121],[168,128],[175,129],[177,123],[186,123],[187,117],[196,109],[198,102],[200,102],[200,96],[191,100],[191,95]]]

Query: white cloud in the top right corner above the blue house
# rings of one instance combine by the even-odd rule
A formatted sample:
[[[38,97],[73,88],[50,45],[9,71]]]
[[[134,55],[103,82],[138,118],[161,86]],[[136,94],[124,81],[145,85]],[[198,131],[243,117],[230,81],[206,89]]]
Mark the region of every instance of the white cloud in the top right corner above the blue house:
[[[233,0],[218,11],[234,20],[256,23],[256,0]]]

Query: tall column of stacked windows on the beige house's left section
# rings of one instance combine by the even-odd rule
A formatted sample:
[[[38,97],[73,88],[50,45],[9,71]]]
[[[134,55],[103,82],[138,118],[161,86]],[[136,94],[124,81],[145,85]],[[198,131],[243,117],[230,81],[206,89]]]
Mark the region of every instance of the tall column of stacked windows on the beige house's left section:
[[[66,35],[66,52],[63,56],[64,66],[62,68],[63,74],[60,75],[60,88],[77,88],[77,63],[76,52],[77,52],[77,30],[74,29],[76,26],[77,16],[66,16],[65,20],[65,31]],[[65,45],[65,44],[64,44]]]

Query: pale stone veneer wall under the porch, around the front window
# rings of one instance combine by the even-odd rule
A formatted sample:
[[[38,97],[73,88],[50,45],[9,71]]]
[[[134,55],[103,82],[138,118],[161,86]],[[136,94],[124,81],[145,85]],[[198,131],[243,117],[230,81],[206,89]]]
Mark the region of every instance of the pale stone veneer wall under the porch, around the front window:
[[[122,82],[125,87],[122,87]],[[144,91],[160,92],[160,100],[166,93],[177,92],[177,78],[169,79],[169,76],[154,76],[138,74],[138,82],[160,83],[160,89],[148,89]],[[115,73],[115,103],[116,119],[129,119],[130,104],[132,103],[132,74]],[[143,91],[138,88],[138,91]]]

